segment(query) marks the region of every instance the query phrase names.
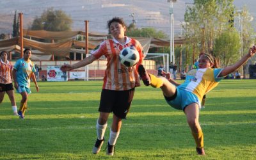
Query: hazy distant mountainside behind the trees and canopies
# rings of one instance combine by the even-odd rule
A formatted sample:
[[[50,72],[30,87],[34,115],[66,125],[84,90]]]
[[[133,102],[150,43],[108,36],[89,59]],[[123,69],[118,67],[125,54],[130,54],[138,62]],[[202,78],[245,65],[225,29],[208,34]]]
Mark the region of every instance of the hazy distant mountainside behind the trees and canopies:
[[[180,22],[184,12],[193,1],[177,0],[173,4],[175,32],[180,32]],[[253,16],[255,0],[235,0],[237,8],[248,6]],[[73,20],[72,30],[84,31],[84,20],[89,20],[89,30],[107,33],[107,21],[112,17],[123,17],[127,25],[134,19],[139,28],[152,27],[170,33],[170,3],[166,0],[1,0],[0,1],[0,34],[12,33],[13,15],[15,10],[24,13],[24,28],[28,28],[36,16],[53,7],[63,10]],[[134,16],[132,17],[132,13]]]

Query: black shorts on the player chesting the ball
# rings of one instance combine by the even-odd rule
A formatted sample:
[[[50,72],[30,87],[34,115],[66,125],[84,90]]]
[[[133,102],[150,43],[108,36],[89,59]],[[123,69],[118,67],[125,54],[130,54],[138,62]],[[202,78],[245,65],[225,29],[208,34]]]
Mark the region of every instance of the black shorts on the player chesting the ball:
[[[118,118],[124,119],[129,112],[133,95],[134,88],[124,91],[102,89],[99,111],[113,112]]]

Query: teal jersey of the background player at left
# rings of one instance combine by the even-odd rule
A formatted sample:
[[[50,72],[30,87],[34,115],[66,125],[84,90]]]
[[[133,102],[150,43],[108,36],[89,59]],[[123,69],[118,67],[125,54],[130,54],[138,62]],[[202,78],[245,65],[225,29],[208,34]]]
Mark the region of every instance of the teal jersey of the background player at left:
[[[25,61],[24,58],[21,58],[16,61],[14,65],[16,72],[16,81],[19,86],[30,87],[30,77],[32,72],[36,72],[35,65],[33,61]]]

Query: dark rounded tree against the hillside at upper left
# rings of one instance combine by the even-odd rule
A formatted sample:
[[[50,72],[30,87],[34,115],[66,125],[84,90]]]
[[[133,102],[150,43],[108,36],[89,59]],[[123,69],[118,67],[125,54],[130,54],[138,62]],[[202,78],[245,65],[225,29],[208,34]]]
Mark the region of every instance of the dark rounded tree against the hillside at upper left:
[[[70,31],[72,19],[62,10],[48,8],[40,17],[36,17],[31,25],[32,30]]]

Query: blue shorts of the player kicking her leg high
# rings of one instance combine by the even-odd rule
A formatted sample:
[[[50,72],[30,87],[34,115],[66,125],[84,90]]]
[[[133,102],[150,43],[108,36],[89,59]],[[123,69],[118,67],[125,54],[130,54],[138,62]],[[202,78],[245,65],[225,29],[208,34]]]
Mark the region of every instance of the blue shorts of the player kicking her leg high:
[[[183,110],[188,106],[189,104],[196,103],[198,104],[199,108],[201,106],[200,100],[194,93],[188,92],[186,90],[180,90],[179,87],[177,89],[177,96],[173,100],[168,100],[167,97],[165,97],[166,102],[172,106],[175,109]]]

